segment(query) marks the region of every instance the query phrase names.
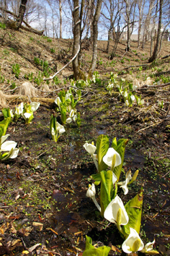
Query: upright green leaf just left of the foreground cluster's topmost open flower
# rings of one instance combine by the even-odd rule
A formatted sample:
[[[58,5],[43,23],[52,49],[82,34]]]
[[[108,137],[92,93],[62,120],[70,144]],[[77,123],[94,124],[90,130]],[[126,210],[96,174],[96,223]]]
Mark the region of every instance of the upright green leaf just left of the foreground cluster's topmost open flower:
[[[105,171],[107,169],[107,164],[104,163],[103,157],[106,155],[109,148],[109,137],[107,135],[99,135],[97,138],[97,158],[100,171]]]

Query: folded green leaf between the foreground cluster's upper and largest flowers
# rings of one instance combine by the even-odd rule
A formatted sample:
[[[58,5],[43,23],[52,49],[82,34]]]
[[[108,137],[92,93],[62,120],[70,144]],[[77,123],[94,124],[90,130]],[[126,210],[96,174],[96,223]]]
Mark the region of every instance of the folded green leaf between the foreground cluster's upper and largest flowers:
[[[112,184],[112,171],[101,171],[100,172],[102,182],[100,187],[100,205],[101,205],[101,215],[104,216],[104,210],[111,202],[110,194],[113,190]]]

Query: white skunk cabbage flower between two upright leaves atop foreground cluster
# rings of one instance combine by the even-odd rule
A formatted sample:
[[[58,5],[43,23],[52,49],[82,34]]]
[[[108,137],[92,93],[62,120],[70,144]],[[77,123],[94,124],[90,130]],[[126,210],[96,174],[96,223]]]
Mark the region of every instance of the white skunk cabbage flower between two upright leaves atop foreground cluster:
[[[115,157],[115,161],[113,161]],[[106,155],[103,157],[104,163],[107,164],[107,166],[111,167],[111,169],[115,168],[116,166],[119,166],[122,163],[120,154],[117,153],[117,151],[114,148],[109,148],[107,150]]]

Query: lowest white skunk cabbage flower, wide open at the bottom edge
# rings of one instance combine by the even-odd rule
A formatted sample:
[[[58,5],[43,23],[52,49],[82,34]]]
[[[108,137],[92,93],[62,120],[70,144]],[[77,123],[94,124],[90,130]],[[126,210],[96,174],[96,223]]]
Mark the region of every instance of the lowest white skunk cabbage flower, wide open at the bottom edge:
[[[125,253],[138,252],[144,247],[138,232],[135,229],[130,228],[130,234],[127,239],[122,244],[122,250]]]

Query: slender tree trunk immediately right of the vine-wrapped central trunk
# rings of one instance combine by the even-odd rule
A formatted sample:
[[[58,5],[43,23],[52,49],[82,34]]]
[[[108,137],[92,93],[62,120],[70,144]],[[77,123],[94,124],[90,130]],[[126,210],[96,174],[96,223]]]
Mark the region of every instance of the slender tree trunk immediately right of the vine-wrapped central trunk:
[[[93,20],[93,56],[91,61],[91,67],[89,69],[89,77],[92,76],[94,73],[94,69],[97,66],[97,37],[98,37],[98,21],[99,21],[99,14],[100,10],[102,8],[102,0],[97,0],[97,8],[96,12],[94,14],[94,20]]]

